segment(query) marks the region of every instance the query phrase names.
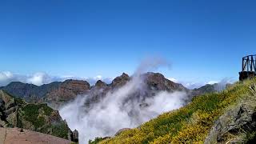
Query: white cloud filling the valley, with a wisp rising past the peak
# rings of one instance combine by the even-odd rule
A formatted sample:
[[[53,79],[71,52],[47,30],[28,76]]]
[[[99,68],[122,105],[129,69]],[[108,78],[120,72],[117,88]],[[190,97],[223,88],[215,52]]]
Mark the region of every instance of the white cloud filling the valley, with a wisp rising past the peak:
[[[140,74],[165,66],[164,61],[142,62],[132,79],[117,90],[110,90],[92,106],[85,106],[89,95],[80,95],[74,102],[63,106],[59,113],[68,126],[78,130],[79,142],[88,143],[95,137],[114,136],[122,128],[134,128],[163,112],[184,105],[185,92],[156,91],[154,97],[143,97],[146,84]]]

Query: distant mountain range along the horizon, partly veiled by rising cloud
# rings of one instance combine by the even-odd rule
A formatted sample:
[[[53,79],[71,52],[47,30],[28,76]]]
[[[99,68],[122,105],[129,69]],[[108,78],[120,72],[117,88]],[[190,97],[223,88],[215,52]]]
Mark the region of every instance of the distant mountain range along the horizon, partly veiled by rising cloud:
[[[198,89],[189,90],[182,84],[175,83],[165,78],[159,73],[146,73],[142,74],[146,82],[146,90],[144,90],[144,96],[150,97],[155,94],[156,91],[186,91],[190,98],[195,95],[205,94],[216,91],[215,85],[206,85]],[[87,94],[89,98],[88,102],[97,102],[98,99],[104,97],[110,90],[117,89],[120,86],[124,86],[132,77],[123,73],[121,76],[114,78],[110,84],[98,80],[94,86],[90,86],[89,82],[82,80],[68,79],[64,82],[51,82],[42,86],[35,86],[33,84],[22,82],[10,82],[7,86],[0,87],[0,90],[14,95],[16,98],[23,98],[26,102],[47,102],[50,106],[58,108],[65,102],[74,100],[78,94]],[[134,92],[136,95],[136,92]],[[138,94],[137,94],[138,95]]]

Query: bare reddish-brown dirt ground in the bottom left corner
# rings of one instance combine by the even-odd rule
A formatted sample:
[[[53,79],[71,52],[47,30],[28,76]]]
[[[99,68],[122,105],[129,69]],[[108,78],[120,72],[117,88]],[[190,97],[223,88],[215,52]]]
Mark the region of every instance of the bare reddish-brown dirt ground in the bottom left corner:
[[[30,130],[0,128],[0,144],[70,144],[70,141]]]

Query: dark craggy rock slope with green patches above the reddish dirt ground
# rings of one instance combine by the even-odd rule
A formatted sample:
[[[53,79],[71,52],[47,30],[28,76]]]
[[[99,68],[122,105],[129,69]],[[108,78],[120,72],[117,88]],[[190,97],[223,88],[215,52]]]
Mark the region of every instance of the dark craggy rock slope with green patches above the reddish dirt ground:
[[[46,104],[27,103],[0,90],[0,126],[19,127],[68,139],[69,127]]]

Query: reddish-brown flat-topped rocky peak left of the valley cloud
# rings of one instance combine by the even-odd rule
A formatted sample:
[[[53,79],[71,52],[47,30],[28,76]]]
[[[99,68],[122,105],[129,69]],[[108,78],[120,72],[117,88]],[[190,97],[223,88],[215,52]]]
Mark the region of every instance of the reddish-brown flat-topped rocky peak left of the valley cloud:
[[[80,80],[66,80],[58,89],[46,94],[46,101],[53,107],[60,106],[63,102],[68,102],[76,98],[78,94],[86,94],[90,90],[90,84]]]

